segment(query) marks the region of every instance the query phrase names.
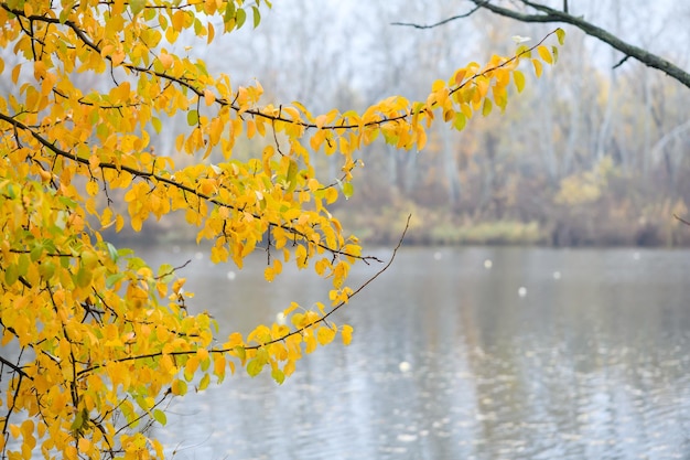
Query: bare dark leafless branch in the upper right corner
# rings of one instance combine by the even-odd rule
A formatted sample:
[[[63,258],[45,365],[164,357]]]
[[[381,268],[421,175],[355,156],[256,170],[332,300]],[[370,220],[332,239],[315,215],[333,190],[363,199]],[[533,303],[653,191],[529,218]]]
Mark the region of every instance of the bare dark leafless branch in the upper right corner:
[[[427,25],[427,26],[409,24],[409,23],[399,24],[399,25],[411,25],[411,26],[416,26],[419,29],[433,28],[433,26],[445,24],[454,19],[465,18],[474,13],[481,8],[484,8],[486,10],[492,11],[493,13],[503,15],[505,18],[510,18],[520,22],[565,23],[565,24],[574,25],[575,28],[580,29],[587,35],[599,39],[602,42],[608,44],[610,46],[625,54],[625,57],[622,60],[619,64],[622,64],[623,61],[628,57],[634,57],[640,63],[645,64],[646,66],[661,71],[668,76],[670,76],[671,78],[678,81],[679,83],[690,88],[690,73],[683,71],[682,68],[678,67],[676,64],[671,63],[668,60],[665,60],[661,56],[658,56],[654,53],[650,53],[649,51],[645,49],[635,46],[630,43],[627,43],[621,40],[618,36],[606,31],[605,29],[602,29],[589,21],[585,21],[584,18],[582,17],[575,17],[569,13],[567,8],[564,8],[565,11],[560,11],[560,10],[547,7],[545,4],[533,2],[531,0],[520,0],[522,4],[530,7],[538,11],[536,13],[522,13],[520,11],[516,11],[510,8],[500,7],[487,0],[470,0],[470,1],[472,1],[476,7],[472,11],[470,11],[470,13],[461,14],[457,18],[450,18],[448,21],[441,21],[441,22],[438,22],[436,24]]]

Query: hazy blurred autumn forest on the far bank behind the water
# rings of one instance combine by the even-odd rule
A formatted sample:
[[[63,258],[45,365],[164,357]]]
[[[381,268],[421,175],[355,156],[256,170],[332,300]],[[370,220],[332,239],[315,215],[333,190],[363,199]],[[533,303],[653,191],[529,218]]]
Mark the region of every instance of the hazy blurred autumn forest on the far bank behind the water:
[[[650,3],[578,1],[571,12],[687,68],[690,4]],[[277,89],[267,101],[300,100],[325,113],[362,109],[392,94],[422,97],[435,76],[459,63],[509,53],[513,35],[537,39],[556,28],[485,11],[427,30],[391,24],[434,23],[470,9],[464,1],[322,2],[314,9],[285,0],[258,30],[194,52],[236,84],[257,79]],[[436,124],[422,153],[384,142],[366,148],[355,194],[339,204],[345,227],[369,243],[390,243],[411,213],[408,243],[689,244],[673,214],[687,217],[690,204],[690,92],[634,60],[616,66],[621,53],[564,29],[558,65],[543,78],[529,77],[503,116],[468,120],[462,133]],[[182,130],[186,120],[169,124],[164,137],[152,133],[166,154],[175,148],[171,127]],[[256,156],[261,147],[246,140],[235,154]],[[319,161],[322,180],[336,182],[335,158]],[[188,236],[177,233],[186,226],[175,218],[184,216],[149,224],[144,235]]]

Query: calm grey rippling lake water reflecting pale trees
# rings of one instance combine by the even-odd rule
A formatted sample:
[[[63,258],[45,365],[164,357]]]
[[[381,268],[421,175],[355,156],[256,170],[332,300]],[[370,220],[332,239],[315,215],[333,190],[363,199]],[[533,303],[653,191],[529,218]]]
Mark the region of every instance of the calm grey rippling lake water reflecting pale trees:
[[[195,261],[194,302],[229,332],[327,298],[265,261]],[[335,319],[351,346],[176,400],[159,435],[182,459],[689,458],[689,279],[687,250],[406,249]]]

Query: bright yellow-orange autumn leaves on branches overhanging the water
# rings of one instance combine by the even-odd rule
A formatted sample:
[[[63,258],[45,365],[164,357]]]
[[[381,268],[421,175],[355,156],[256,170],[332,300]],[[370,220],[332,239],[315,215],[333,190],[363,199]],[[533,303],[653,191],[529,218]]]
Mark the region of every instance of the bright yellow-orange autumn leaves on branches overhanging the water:
[[[505,108],[521,90],[520,61],[537,75],[556,60],[543,41],[513,57],[492,57],[438,81],[424,100],[390,97],[364,113],[312,115],[299,103],[261,103],[259,83],[234,86],[203,62],[169,50],[182,34],[203,46],[254,22],[268,1],[0,0],[0,61],[12,89],[0,95],[0,451],[6,458],[162,458],[148,437],[164,424],[161,403],[222,382],[237,366],[268,368],[282,382],[295,362],[353,329],[330,315],[355,292],[351,266],[374,261],[328,211],[353,193],[353,152],[382,138],[421,150],[440,120],[461,130],[475,113]],[[562,41],[562,31],[553,34]],[[546,39],[545,39],[546,40]],[[109,84],[74,83],[93,74]],[[169,116],[186,117],[176,149],[194,156],[176,168],[154,151],[150,132]],[[240,137],[263,150],[240,161]],[[223,162],[204,161],[220,152]],[[320,181],[312,157],[339,158],[342,175]],[[126,206],[116,206],[117,201]],[[118,210],[125,210],[119,212]],[[314,309],[285,302],[285,324],[247,336],[214,335],[207,314],[188,314],[175,267],[149,267],[117,248],[104,231],[138,232],[151,218],[184,213],[211,242],[214,263],[269,252],[266,279],[283,264],[330,280]]]

